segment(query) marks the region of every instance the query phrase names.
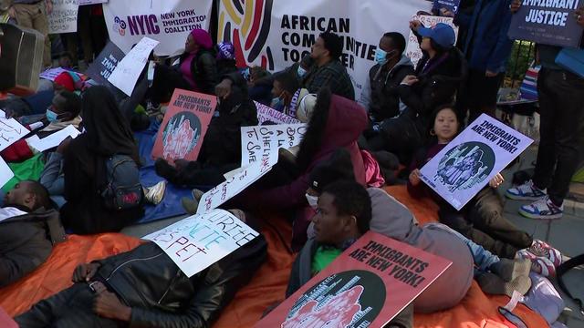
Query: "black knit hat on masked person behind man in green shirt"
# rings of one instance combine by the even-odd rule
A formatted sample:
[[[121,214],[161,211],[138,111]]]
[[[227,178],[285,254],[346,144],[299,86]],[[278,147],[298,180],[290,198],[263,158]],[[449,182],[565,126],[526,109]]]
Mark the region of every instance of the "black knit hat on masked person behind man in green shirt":
[[[355,180],[353,163],[347,149],[337,149],[330,158],[310,171],[309,187],[318,193],[339,180]]]

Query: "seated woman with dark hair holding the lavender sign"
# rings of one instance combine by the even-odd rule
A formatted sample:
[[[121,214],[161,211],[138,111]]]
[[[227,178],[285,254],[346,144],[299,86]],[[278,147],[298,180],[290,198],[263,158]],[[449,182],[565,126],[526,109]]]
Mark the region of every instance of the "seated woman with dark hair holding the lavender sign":
[[[559,252],[543,241],[534,241],[525,231],[521,231],[503,216],[503,202],[497,194],[497,188],[503,182],[503,176],[497,174],[489,186],[474,196],[462,210],[455,210],[446,200],[422,183],[420,169],[440,152],[459,132],[460,121],[454,108],[445,105],[434,110],[429,128],[429,145],[418,151],[412,161],[412,173],[408,182],[408,192],[413,198],[432,198],[440,207],[440,221],[466,238],[483,246],[486,250],[506,259],[515,259],[516,255],[528,258],[532,252],[545,255],[533,261],[534,272],[553,275],[555,267],[561,261]],[[454,178],[463,173],[453,173]],[[520,251],[529,249],[530,251]],[[556,261],[556,263],[554,263]]]

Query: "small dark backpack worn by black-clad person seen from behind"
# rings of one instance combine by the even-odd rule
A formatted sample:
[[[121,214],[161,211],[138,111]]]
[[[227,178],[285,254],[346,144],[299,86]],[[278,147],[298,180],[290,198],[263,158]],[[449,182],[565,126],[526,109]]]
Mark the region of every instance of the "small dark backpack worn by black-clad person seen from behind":
[[[130,210],[140,206],[144,197],[140,171],[128,155],[113,155],[106,159],[106,185],[101,191],[108,210]]]

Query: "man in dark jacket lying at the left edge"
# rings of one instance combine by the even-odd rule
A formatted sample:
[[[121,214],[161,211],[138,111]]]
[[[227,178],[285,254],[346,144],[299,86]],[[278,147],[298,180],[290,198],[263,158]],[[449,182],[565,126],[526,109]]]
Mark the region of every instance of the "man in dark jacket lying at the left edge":
[[[16,282],[47,260],[65,231],[48,192],[36,181],[21,181],[0,209],[0,287]]]

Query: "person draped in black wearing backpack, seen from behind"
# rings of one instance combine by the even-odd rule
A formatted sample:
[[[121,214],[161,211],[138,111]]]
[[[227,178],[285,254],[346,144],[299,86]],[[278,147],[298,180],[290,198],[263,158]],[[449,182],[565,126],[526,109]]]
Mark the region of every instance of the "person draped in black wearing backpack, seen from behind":
[[[59,145],[67,200],[61,219],[78,234],[119,231],[143,215],[138,147],[106,87],[89,88],[81,116],[86,132]]]

